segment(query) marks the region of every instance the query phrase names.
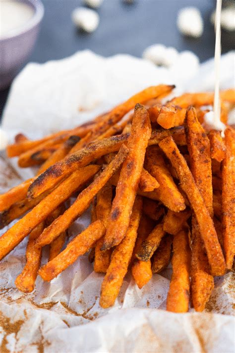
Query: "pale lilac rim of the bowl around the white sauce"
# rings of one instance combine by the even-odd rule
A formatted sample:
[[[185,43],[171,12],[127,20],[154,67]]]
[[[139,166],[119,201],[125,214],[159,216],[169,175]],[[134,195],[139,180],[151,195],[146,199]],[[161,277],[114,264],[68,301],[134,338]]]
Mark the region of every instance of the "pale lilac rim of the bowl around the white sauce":
[[[0,42],[11,38],[16,38],[28,32],[30,29],[32,29],[37,24],[39,24],[43,18],[44,5],[41,0],[14,0],[14,1],[27,3],[28,5],[31,5],[34,8],[35,12],[33,16],[25,24],[19,26],[18,28],[10,30],[8,34],[0,36]]]

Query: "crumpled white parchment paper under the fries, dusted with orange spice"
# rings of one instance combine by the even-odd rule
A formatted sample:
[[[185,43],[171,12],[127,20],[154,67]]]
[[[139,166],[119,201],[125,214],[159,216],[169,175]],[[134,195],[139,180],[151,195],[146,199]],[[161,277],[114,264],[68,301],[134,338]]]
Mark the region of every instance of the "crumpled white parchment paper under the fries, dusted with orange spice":
[[[234,84],[235,53],[222,59],[221,87]],[[186,65],[187,64],[187,65]],[[15,79],[2,128],[12,139],[70,128],[107,111],[133,93],[158,83],[176,84],[176,93],[213,90],[213,60],[177,63],[173,69],[127,55],[102,58],[90,51],[43,65],[29,64]],[[0,155],[0,192],[34,175],[17,160]],[[90,222],[89,211],[69,229],[70,236]],[[1,230],[2,234],[7,227]],[[25,263],[27,238],[0,262],[0,352],[234,352],[234,278],[216,278],[205,313],[165,311],[171,269],[139,289],[127,275],[114,307],[99,306],[102,274],[86,256],[52,282],[38,277],[23,294],[14,281]],[[47,261],[48,249],[43,260]]]

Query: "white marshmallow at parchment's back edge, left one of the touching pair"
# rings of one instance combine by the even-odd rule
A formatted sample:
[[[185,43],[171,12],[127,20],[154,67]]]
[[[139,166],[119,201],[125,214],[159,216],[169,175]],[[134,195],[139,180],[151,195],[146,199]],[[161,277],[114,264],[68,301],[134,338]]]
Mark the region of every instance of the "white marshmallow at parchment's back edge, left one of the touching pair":
[[[154,44],[144,50],[142,57],[155,65],[169,68],[176,61],[178,52],[175,48],[167,48],[162,44]]]

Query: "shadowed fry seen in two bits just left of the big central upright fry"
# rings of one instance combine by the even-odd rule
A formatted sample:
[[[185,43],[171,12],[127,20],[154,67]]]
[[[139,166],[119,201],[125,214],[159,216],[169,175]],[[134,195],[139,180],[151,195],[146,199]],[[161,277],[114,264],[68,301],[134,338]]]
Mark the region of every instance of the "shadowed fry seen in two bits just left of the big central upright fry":
[[[96,216],[107,228],[112,208],[113,190],[112,185],[107,183],[97,194]],[[106,273],[110,265],[111,249],[101,251],[104,238],[100,238],[95,246],[94,271]]]

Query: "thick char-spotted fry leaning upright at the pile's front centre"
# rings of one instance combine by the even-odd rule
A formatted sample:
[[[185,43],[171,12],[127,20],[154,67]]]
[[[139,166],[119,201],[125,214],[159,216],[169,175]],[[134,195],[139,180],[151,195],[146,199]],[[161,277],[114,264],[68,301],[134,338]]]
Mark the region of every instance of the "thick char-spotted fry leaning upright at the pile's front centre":
[[[151,125],[147,109],[138,104],[135,107],[130,138],[127,142],[130,152],[120,171],[102,250],[119,244],[125,236],[150,136]]]

